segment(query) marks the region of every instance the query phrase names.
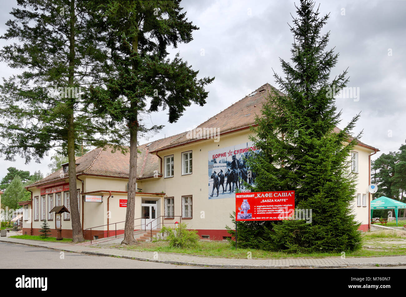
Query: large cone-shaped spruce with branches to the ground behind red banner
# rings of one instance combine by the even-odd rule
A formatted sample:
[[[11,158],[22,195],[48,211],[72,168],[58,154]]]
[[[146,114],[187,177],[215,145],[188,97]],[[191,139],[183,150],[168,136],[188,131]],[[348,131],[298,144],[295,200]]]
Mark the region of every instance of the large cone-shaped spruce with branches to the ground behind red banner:
[[[248,159],[257,173],[255,192],[295,190],[296,209],[311,209],[312,222],[286,220],[263,223],[262,248],[290,252],[348,251],[360,247],[359,223],[351,213],[354,174],[349,169],[351,138],[359,114],[334,133],[340,112],[331,90],[346,87],[347,71],[329,82],[338,54],[325,50],[329,32],[321,34],[328,15],[320,17],[314,3],[301,0],[293,18],[292,65],[281,59],[284,78],[274,74],[273,89],[256,119],[251,140],[260,149]],[[272,229],[272,230],[271,230]]]

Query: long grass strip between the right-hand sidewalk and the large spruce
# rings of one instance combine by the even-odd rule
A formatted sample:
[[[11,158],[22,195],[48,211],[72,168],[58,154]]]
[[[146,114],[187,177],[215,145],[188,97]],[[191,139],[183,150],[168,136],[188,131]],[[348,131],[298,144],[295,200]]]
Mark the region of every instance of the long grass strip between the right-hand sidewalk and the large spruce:
[[[406,232],[405,232],[406,233]],[[387,237],[385,237],[387,238]],[[371,239],[375,240],[375,239]],[[403,239],[406,243],[406,238]],[[368,244],[370,244],[368,242]],[[199,241],[198,245],[194,249],[182,249],[182,248],[171,248],[168,246],[166,241],[158,242],[140,242],[137,245],[131,246],[121,246],[113,245],[112,247],[117,247],[127,250],[143,250],[151,252],[169,252],[169,253],[179,253],[179,254],[192,254],[192,255],[203,255],[203,256],[219,256],[225,258],[247,258],[251,256],[252,258],[296,258],[296,257],[316,257],[324,258],[331,256],[341,256],[341,252],[337,253],[295,253],[289,254],[286,252],[270,252],[255,249],[242,249],[238,248],[235,250],[234,246],[231,246],[227,242],[221,241]],[[250,254],[251,253],[251,254]],[[355,252],[347,252],[346,257],[354,256],[382,256],[382,255],[401,255],[406,254],[406,247],[403,245],[396,247],[396,245],[390,245],[388,247],[377,247],[376,249],[362,248],[361,250]]]

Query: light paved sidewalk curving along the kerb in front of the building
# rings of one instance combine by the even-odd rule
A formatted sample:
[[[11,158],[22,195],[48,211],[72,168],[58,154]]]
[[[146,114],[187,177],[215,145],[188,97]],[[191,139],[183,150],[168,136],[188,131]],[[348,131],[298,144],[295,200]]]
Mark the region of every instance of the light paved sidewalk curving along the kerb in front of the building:
[[[144,260],[160,263],[171,263],[177,265],[199,265],[209,267],[225,268],[292,268],[292,267],[360,267],[360,266],[406,266],[406,255],[401,256],[380,256],[380,257],[327,257],[327,258],[220,258],[207,256],[194,256],[184,254],[173,254],[163,252],[145,252],[134,250],[121,250],[109,247],[91,247],[84,245],[73,245],[69,243],[47,242],[28,239],[17,239],[0,237],[0,241],[34,245],[37,247],[51,248],[68,252],[78,252],[98,256],[119,256],[134,260]],[[406,267],[405,267],[406,268]]]

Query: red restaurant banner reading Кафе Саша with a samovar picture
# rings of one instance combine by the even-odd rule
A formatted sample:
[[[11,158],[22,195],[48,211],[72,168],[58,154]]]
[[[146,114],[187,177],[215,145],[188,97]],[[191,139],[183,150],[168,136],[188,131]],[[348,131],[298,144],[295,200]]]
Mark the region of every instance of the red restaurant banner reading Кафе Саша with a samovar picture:
[[[279,221],[294,214],[295,191],[235,193],[237,221]]]

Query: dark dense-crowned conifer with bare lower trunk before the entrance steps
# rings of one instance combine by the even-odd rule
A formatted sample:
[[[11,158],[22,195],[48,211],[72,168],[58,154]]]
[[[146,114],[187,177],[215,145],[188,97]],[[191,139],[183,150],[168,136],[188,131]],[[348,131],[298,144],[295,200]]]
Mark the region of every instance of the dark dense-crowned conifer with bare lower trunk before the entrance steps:
[[[167,58],[168,46],[192,40],[197,30],[181,13],[180,1],[91,1],[95,26],[101,28],[99,42],[106,44],[113,65],[104,86],[91,89],[95,106],[108,112],[110,123],[126,123],[130,136],[130,175],[125,217],[124,244],[135,243],[134,205],[139,133],[158,131],[161,126],[146,127],[142,118],[159,108],[168,108],[169,122],[176,122],[192,102],[205,104],[205,85],[214,78],[197,79],[186,61]],[[147,103],[150,101],[150,107]]]

